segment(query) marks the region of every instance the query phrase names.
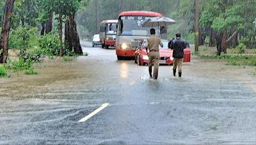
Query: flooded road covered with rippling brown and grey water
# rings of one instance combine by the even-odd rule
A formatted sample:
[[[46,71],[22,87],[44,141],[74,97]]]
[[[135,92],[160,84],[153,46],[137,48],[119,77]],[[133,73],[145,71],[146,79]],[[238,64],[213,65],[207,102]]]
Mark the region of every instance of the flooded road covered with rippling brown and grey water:
[[[0,144],[256,144],[255,67],[192,57],[182,78],[92,48],[0,78]],[[82,118],[102,107],[88,120]]]

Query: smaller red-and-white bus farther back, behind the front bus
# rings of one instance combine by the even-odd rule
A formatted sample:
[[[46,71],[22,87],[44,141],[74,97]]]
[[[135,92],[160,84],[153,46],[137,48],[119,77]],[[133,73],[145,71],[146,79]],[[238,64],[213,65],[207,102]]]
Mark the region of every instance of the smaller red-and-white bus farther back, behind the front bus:
[[[104,20],[100,23],[100,43],[102,48],[115,46],[118,20]]]

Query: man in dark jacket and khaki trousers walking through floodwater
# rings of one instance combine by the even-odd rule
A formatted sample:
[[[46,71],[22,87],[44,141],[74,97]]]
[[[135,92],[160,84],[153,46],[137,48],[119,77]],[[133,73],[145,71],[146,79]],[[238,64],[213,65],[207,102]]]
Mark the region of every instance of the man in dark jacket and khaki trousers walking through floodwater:
[[[169,48],[173,50],[173,76],[176,76],[176,68],[178,66],[179,77],[181,77],[182,73],[182,64],[184,57],[184,49],[186,48],[186,41],[180,38],[180,33],[176,33],[176,39],[171,40],[171,46],[168,45]]]

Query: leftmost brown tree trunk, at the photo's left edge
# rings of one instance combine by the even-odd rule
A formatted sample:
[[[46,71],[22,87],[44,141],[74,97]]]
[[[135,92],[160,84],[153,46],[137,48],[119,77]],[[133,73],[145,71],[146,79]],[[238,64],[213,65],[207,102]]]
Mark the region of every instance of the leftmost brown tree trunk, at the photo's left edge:
[[[0,63],[5,63],[8,56],[8,38],[11,28],[14,0],[6,0],[3,14],[2,31],[0,36]]]

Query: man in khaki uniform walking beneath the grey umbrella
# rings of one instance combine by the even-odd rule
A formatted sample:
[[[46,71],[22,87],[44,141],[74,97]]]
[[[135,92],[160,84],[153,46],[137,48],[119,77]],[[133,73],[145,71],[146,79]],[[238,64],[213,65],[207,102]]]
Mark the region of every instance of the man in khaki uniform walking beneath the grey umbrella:
[[[154,28],[150,29],[150,38],[147,38],[147,52],[148,52],[148,71],[150,78],[157,79],[159,67],[159,45],[163,47],[160,38],[155,36],[156,31]],[[152,77],[152,65],[154,60],[154,72]]]

